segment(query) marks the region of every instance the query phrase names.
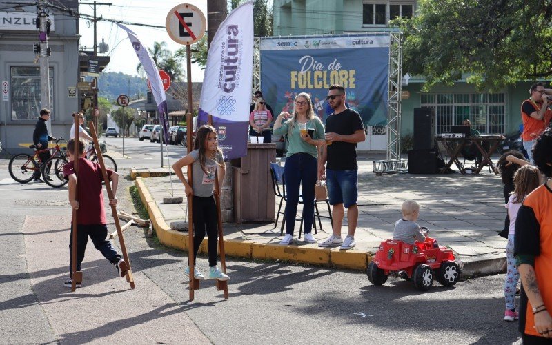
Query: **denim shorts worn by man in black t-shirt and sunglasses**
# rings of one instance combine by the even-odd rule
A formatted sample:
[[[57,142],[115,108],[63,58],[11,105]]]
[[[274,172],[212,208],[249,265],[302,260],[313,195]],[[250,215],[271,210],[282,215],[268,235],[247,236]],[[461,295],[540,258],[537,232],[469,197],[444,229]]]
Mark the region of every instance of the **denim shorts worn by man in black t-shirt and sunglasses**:
[[[357,170],[326,169],[326,179],[331,205],[343,204],[345,208],[349,208],[357,204]]]

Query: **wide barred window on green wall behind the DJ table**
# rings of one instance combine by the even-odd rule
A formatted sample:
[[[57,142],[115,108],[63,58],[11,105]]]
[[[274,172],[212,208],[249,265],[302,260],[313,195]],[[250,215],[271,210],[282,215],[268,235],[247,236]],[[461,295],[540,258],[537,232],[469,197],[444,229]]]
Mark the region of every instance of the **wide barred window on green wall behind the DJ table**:
[[[506,132],[506,94],[442,93],[422,94],[423,108],[435,109],[435,134],[446,133],[469,119],[481,134]]]

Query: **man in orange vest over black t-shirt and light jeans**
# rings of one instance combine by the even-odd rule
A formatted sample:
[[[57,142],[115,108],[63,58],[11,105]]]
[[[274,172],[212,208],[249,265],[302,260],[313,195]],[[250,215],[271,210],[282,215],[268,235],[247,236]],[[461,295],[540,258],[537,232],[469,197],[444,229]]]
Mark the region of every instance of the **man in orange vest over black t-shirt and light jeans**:
[[[535,144],[535,139],[540,133],[548,127],[552,119],[552,110],[548,108],[548,95],[552,95],[552,89],[544,88],[543,83],[534,83],[529,89],[531,97],[522,103],[521,113],[523,121],[523,147],[527,151],[529,161],[533,162],[533,152],[531,149]]]

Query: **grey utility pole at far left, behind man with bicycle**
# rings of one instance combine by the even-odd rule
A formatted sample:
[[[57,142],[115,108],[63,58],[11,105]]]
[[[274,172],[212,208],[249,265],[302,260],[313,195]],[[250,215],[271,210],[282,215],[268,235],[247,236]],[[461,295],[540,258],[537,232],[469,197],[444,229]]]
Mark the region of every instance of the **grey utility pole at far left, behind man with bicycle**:
[[[50,104],[50,48],[48,48],[48,35],[50,34],[50,19],[48,19],[48,3],[39,0],[37,3],[37,26],[39,28],[39,44],[34,46],[34,52],[39,53],[40,60],[40,101],[42,108],[51,110]],[[40,111],[40,109],[38,110]],[[46,121],[48,133],[52,135],[52,121]]]

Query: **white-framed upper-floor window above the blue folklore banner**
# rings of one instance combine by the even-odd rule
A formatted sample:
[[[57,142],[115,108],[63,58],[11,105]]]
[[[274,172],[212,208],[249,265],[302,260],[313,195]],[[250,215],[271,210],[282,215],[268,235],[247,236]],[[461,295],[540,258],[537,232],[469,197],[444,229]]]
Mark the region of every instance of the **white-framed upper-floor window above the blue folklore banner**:
[[[398,17],[411,18],[413,1],[364,1],[362,24],[364,26],[386,26],[388,21]]]

